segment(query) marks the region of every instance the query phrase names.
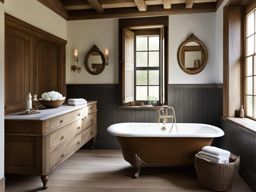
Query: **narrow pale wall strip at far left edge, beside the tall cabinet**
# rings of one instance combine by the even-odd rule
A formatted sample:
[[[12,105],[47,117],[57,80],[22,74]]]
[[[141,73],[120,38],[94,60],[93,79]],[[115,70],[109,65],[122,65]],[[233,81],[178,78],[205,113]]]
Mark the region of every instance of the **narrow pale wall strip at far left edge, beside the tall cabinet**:
[[[0,180],[4,177],[4,6],[0,2]]]

